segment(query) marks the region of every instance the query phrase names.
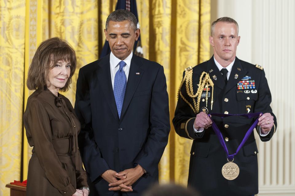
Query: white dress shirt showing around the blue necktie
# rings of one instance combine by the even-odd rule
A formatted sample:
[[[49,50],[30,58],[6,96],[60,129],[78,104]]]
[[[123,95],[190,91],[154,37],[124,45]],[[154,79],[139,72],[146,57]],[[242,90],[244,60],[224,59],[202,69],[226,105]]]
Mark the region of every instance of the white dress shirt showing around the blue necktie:
[[[129,70],[130,70],[130,64],[131,64],[131,59],[132,59],[133,52],[130,53],[129,56],[127,56],[126,59],[123,61],[126,63],[126,65],[123,67],[123,70],[126,75],[126,80],[128,81],[128,75],[129,75]],[[111,79],[112,79],[112,86],[114,89],[114,81],[115,81],[115,75],[117,71],[119,70],[120,66],[120,59],[118,59],[112,52],[110,54],[110,69],[111,69]]]

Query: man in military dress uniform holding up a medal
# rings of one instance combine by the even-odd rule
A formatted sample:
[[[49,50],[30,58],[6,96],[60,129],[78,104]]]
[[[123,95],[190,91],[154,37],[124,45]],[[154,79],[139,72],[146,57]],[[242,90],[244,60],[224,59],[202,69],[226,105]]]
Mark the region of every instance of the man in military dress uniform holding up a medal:
[[[268,141],[276,131],[277,121],[270,107],[271,94],[265,72],[261,66],[236,57],[239,41],[238,24],[234,19],[223,17],[214,21],[210,37],[214,56],[194,68],[187,68],[184,72],[184,85],[179,91],[181,94],[173,125],[179,136],[193,140],[188,185],[195,187],[204,196],[249,196],[258,193],[258,149],[254,133],[250,134],[234,156],[234,163],[240,169],[238,177],[234,180],[225,179],[222,176],[222,166],[228,162],[227,156],[206,113],[262,112],[256,127],[260,139]],[[203,72],[205,75],[202,79],[205,76],[210,78],[201,81]],[[189,83],[190,78],[192,83]],[[186,81],[188,86],[185,85]],[[194,96],[197,91],[198,96]],[[212,119],[222,133],[229,154],[236,152],[255,121],[254,118],[242,116],[212,116]]]

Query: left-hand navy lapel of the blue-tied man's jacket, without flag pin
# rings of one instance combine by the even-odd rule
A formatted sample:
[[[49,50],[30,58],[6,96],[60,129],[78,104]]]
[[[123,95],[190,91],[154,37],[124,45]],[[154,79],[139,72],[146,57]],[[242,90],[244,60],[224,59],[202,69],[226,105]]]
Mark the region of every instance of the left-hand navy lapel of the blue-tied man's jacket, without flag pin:
[[[98,63],[98,69],[96,70],[96,76],[100,83],[100,87],[104,91],[106,102],[108,102],[108,105],[112,111],[112,114],[114,115],[115,119],[119,120],[115,96],[114,96],[113,87],[112,87],[112,79],[111,79],[111,71],[110,71],[110,55],[100,60],[100,62]],[[101,96],[101,95],[97,94],[97,96]]]

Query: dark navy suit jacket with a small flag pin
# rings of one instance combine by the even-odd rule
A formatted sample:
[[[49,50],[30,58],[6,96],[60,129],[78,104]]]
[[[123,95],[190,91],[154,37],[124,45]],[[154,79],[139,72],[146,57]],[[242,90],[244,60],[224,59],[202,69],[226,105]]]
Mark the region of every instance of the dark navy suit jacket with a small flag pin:
[[[75,111],[82,127],[78,138],[82,160],[98,194],[114,194],[101,178],[109,169],[119,172],[140,164],[147,171],[128,195],[140,195],[158,182],[158,163],[170,131],[163,66],[132,56],[119,118],[110,56],[89,63],[79,71]]]

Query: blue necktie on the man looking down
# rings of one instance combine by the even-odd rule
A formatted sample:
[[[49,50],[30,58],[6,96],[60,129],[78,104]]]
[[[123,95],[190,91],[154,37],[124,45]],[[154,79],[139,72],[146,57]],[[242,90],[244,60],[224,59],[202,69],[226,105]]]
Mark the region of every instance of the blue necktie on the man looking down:
[[[114,80],[114,95],[115,95],[119,118],[121,116],[124,95],[125,95],[125,90],[126,90],[126,84],[127,84],[126,75],[123,70],[123,67],[125,65],[126,65],[126,63],[124,61],[120,61],[120,63],[119,63],[120,68],[117,71],[117,73],[115,75],[115,80]]]

